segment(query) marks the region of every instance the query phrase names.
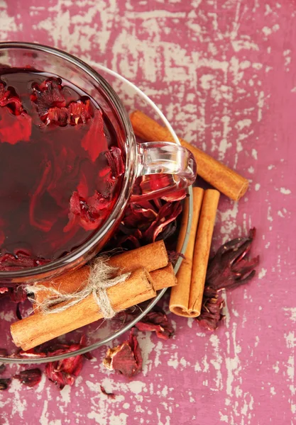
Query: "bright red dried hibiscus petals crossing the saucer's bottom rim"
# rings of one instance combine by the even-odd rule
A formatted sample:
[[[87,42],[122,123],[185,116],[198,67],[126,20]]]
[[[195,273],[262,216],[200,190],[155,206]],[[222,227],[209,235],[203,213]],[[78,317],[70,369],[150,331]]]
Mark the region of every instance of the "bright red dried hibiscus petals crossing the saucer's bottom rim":
[[[85,337],[82,336],[79,344],[60,344],[50,351],[51,356],[57,356],[62,353],[71,353],[85,346]],[[72,356],[63,360],[47,363],[45,366],[45,375],[53,381],[57,387],[62,390],[65,385],[73,385],[75,378],[80,374],[83,365],[83,356]]]

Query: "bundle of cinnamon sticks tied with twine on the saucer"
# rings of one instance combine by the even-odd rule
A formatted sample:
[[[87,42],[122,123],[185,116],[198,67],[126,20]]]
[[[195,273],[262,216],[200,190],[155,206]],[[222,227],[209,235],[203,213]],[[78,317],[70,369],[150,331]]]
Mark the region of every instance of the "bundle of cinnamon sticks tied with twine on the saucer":
[[[156,290],[176,284],[175,273],[163,241],[125,251],[111,257],[109,263],[119,268],[121,273],[131,272],[124,282],[107,289],[109,300],[116,312],[150,300],[155,297]],[[87,284],[89,273],[90,267],[84,266],[50,282],[40,283],[44,290],[37,295],[38,304],[48,297],[54,299],[53,289],[58,289],[60,293],[81,290]],[[53,306],[53,309],[58,306]],[[62,312],[43,314],[36,310],[35,314],[11,324],[11,335],[16,346],[27,351],[102,318],[94,296],[89,295]]]

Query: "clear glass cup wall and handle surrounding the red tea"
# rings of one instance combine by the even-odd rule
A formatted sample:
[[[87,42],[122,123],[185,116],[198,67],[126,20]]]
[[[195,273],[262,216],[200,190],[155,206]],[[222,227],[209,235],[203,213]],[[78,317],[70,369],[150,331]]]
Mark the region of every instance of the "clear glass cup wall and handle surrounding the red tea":
[[[126,171],[114,209],[102,227],[99,227],[86,243],[70,254],[43,266],[20,271],[1,271],[0,285],[45,280],[82,266],[110,239],[128,203],[168,195],[172,191],[187,188],[194,182],[196,163],[191,152],[170,142],[137,144],[128,114],[115,91],[94,69],[76,57],[52,47],[33,43],[0,42],[1,67],[34,68],[39,72],[56,74],[92,96],[114,126],[118,142],[125,151]],[[160,184],[156,190],[147,190],[149,176],[155,174],[169,175],[168,179],[160,179],[165,181],[167,186]],[[143,194],[135,191],[137,179],[145,179],[146,191]]]

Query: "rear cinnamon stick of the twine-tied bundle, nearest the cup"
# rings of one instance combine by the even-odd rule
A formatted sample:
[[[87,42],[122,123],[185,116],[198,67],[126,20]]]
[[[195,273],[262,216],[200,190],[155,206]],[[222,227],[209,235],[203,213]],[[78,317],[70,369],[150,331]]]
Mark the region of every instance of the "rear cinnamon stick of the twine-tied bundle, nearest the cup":
[[[153,272],[158,269],[163,270],[163,268],[168,266],[168,252],[165,248],[165,243],[161,240],[154,242],[153,244],[141,246],[140,248],[133,249],[131,251],[124,251],[121,254],[112,256],[108,260],[108,263],[110,266],[119,268],[121,273],[128,273],[141,267],[146,268],[149,272]],[[51,288],[57,289],[66,294],[82,290],[87,284],[89,273],[90,267],[84,266],[82,268],[78,268],[72,273],[58,276],[50,281],[40,282],[40,285],[42,285],[45,290],[35,294],[36,305],[40,305],[49,297],[56,297],[56,295],[53,295],[53,292],[50,291]],[[164,281],[167,279],[168,286],[172,286],[175,283],[175,281],[173,281],[172,273],[172,268],[165,269],[163,273],[159,272],[155,275],[151,273],[155,290],[160,289],[162,279],[164,279]],[[175,274],[173,274],[173,276],[175,277]],[[162,286],[161,289],[168,288],[168,286]],[[38,311],[38,307],[35,307],[34,311]]]

